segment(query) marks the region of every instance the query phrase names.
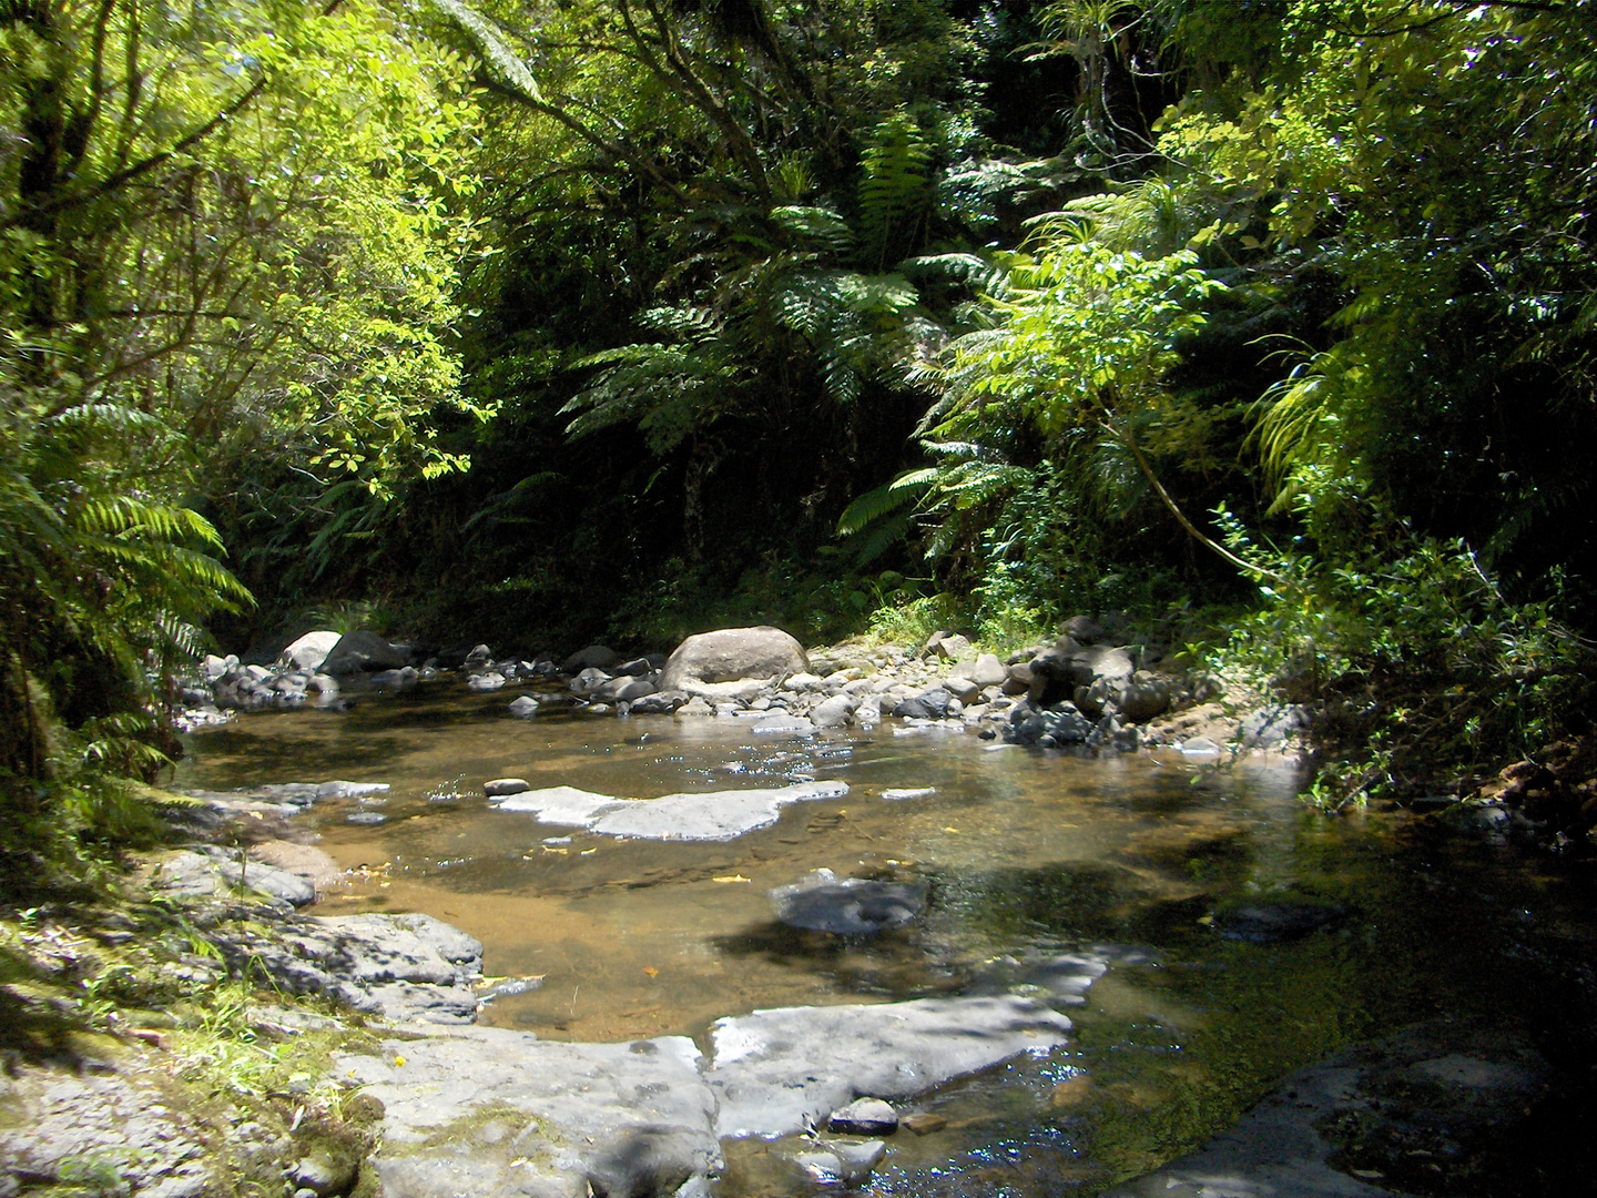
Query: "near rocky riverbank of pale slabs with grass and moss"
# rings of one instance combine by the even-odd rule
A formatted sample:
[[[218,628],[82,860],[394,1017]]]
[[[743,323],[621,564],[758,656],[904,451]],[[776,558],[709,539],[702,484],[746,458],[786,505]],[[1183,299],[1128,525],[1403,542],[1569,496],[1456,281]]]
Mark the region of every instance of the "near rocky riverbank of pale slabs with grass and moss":
[[[22,941],[62,994],[45,1002],[64,1011],[73,979],[89,981],[105,997],[70,1019],[102,1048],[13,1062],[0,1102],[22,1131],[0,1136],[0,1161],[14,1179],[75,1184],[89,1160],[118,1192],[161,1198],[663,1198],[707,1193],[722,1142],[752,1136],[781,1140],[795,1184],[858,1180],[901,1121],[905,1134],[937,1125],[917,1118],[917,1097],[1072,1030],[1005,992],[728,1014],[707,1051],[685,1037],[551,1043],[471,1027],[484,1003],[537,979],[484,978],[482,946],[428,915],[308,914],[337,872],[310,845],[262,835],[318,795],[363,789],[200,795],[184,816],[211,839],[152,859],[153,898],[101,920],[118,965],[88,952],[86,912],[72,931],[65,912],[35,912]],[[813,915],[824,895],[811,890]],[[1080,1002],[1102,970],[1070,957],[1049,976]]]

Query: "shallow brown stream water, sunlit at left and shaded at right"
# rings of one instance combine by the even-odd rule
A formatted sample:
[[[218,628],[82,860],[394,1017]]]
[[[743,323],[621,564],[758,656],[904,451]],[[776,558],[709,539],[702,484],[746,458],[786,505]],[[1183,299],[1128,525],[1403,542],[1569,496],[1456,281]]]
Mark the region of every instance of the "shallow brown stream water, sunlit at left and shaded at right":
[[[366,867],[319,910],[425,910],[470,931],[489,973],[543,976],[485,1021],[546,1038],[707,1046],[711,1021],[762,1006],[1046,997],[1040,970],[1060,954],[1107,965],[1084,1002],[1052,1000],[1076,1021],[1067,1048],[910,1104],[947,1126],[896,1136],[872,1193],[1099,1192],[1354,1038],[1551,1002],[1597,942],[1583,874],[1313,815],[1284,767],[1091,760],[893,727],[797,740],[736,719],[516,720],[511,696],[442,684],[347,714],[248,716],[190,738],[176,781],[390,783],[383,802],[302,816],[340,866]],[[493,810],[481,786],[505,775],[621,797],[851,789],[728,843],[618,842]],[[934,794],[882,797],[894,787]],[[925,882],[926,910],[874,938],[786,928],[768,891],[816,867]],[[1276,901],[1341,907],[1290,941],[1223,934],[1236,904]],[[722,1193],[805,1192],[779,1148],[730,1144]]]

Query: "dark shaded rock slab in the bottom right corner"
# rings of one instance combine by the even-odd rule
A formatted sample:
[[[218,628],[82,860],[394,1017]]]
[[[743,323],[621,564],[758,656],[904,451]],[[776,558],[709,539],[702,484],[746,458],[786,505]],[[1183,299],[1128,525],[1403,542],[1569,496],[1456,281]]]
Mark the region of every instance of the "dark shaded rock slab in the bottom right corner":
[[[1420,1024],[1292,1073],[1231,1131],[1112,1198],[1503,1193],[1546,1075],[1517,1032]]]

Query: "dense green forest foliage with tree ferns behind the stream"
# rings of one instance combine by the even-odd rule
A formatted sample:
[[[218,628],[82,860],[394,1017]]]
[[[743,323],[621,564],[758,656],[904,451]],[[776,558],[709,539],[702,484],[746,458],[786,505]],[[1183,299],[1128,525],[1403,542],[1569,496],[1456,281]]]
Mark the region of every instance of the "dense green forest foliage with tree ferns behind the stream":
[[[0,0],[8,810],[315,602],[1127,609],[1349,791],[1568,730],[1594,64],[1591,0]]]

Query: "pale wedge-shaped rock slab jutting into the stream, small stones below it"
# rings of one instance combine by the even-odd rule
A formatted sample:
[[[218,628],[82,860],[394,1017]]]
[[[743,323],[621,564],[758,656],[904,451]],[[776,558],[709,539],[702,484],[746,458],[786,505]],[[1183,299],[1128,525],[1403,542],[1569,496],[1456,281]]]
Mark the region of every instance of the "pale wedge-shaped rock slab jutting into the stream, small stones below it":
[[[917,998],[878,1006],[783,1006],[717,1019],[709,1083],[720,1136],[776,1137],[824,1123],[858,1094],[902,1099],[1028,1049],[1062,1045],[1070,1021],[1040,1003]]]

